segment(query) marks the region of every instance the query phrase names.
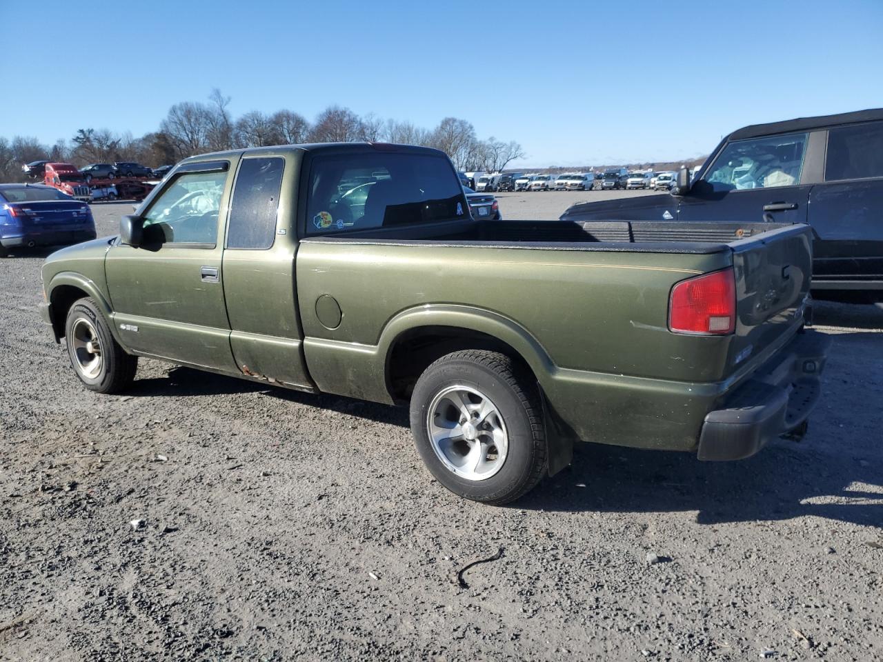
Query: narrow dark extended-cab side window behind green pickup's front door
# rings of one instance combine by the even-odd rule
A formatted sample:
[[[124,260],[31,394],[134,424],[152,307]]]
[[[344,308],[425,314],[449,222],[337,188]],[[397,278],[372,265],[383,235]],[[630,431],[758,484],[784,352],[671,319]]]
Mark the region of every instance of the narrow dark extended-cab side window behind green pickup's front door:
[[[276,211],[285,161],[244,159],[233,187],[227,248],[266,249],[275,239]]]

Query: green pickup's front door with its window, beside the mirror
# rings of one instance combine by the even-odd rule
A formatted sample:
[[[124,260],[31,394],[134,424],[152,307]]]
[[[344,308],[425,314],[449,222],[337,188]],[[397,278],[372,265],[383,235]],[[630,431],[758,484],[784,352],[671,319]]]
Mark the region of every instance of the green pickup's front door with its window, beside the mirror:
[[[113,321],[129,350],[236,371],[222,274],[230,179],[229,161],[185,164],[142,212],[140,247],[109,249]]]

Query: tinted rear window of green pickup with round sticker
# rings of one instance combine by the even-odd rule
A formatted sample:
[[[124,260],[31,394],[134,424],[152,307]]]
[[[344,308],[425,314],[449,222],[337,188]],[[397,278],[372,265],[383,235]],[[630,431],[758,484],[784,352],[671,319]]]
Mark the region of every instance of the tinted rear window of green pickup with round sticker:
[[[308,234],[468,216],[460,180],[442,156],[379,152],[313,159]]]

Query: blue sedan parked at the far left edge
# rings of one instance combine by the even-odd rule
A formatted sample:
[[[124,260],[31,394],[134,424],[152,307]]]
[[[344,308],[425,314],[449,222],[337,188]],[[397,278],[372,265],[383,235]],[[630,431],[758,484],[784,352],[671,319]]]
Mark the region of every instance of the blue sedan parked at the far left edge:
[[[20,246],[94,238],[95,221],[85,202],[43,184],[0,184],[0,257]]]

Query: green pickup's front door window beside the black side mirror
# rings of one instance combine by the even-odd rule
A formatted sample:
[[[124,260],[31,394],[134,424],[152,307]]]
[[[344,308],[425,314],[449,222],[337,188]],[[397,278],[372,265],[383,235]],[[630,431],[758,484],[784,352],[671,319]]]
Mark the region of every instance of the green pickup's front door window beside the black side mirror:
[[[185,172],[175,177],[145,214],[145,242],[214,246],[226,180],[226,171]]]

